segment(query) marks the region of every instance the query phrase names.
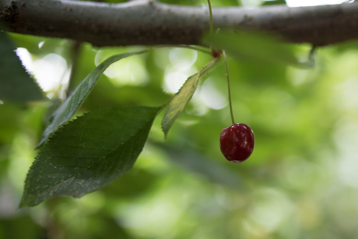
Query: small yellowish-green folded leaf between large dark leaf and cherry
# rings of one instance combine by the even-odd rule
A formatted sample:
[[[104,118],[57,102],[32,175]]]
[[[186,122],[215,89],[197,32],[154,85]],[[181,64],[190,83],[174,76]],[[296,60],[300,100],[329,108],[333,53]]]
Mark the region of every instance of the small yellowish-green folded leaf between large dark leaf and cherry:
[[[217,61],[218,59],[214,58],[197,73],[190,76],[184,82],[179,91],[171,98],[168,108],[166,109],[163,119],[161,120],[161,128],[163,129],[165,139],[167,138],[169,129],[174,124],[176,118],[179,117],[190,99],[192,99],[193,94],[197,89],[199,78],[208,73]]]

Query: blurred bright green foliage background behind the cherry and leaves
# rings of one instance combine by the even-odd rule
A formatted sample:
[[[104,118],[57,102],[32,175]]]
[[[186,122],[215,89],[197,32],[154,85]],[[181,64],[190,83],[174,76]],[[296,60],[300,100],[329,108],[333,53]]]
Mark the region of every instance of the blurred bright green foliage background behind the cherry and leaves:
[[[57,54],[71,67],[68,40],[10,35],[31,62]],[[307,60],[310,46],[292,48]],[[104,55],[136,50],[82,44],[70,89]],[[180,85],[210,59],[162,49],[119,61],[77,114],[162,105],[173,82]],[[50,199],[30,209],[17,207],[52,101],[0,105],[0,238],[357,238],[357,42],[319,48],[315,62],[303,70],[229,59],[235,118],[256,138],[244,163],[229,163],[219,149],[219,134],[231,124],[221,65],[199,81],[166,141],[159,115],[131,171],[81,199]],[[36,67],[29,70],[40,78]],[[58,85],[47,93],[53,101],[67,94]]]

